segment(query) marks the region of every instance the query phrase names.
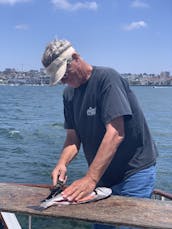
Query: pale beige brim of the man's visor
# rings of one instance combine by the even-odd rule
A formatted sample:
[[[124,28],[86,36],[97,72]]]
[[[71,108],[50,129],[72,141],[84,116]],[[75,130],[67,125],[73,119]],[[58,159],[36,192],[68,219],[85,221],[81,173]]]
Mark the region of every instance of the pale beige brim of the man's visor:
[[[64,61],[63,64],[58,68],[56,72],[51,74],[50,77],[50,85],[54,86],[56,85],[64,76],[67,68],[67,61]]]

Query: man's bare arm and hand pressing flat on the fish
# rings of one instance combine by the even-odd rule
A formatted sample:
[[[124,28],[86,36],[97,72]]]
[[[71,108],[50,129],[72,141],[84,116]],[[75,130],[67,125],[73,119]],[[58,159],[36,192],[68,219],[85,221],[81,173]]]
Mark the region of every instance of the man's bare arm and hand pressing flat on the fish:
[[[106,133],[87,174],[63,191],[65,198],[77,201],[94,190],[115,156],[124,136],[124,120],[122,116],[115,118],[106,125]]]

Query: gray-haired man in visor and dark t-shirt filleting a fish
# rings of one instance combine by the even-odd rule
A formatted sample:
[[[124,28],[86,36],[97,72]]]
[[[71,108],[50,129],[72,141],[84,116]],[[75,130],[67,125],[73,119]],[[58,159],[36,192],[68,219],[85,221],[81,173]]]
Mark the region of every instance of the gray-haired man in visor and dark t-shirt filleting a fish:
[[[149,198],[157,150],[127,81],[111,68],[86,63],[67,40],[50,42],[42,63],[51,85],[68,85],[63,96],[66,139],[53,184],[66,180],[67,166],[82,144],[88,171],[63,191],[65,198],[78,201],[96,186]]]

